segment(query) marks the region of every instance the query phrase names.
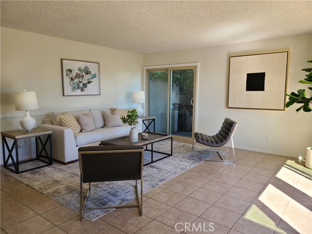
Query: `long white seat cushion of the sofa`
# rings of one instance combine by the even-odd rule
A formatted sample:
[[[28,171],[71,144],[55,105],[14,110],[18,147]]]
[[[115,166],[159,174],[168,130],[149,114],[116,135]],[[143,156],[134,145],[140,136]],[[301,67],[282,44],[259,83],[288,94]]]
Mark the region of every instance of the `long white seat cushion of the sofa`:
[[[95,131],[85,133],[80,132],[77,134],[76,137],[76,145],[82,146],[86,144],[100,142],[102,140],[124,137],[129,135],[130,130],[131,127],[129,125],[123,125],[113,128],[97,128]]]

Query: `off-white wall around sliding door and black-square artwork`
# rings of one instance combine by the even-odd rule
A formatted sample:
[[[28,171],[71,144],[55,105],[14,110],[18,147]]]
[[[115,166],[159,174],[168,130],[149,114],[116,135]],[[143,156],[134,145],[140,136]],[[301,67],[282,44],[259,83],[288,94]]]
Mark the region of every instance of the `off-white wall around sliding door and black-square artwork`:
[[[287,92],[308,85],[298,83],[305,77],[302,68],[312,59],[312,35],[271,39],[248,43],[198,48],[166,53],[146,54],[144,66],[199,62],[197,93],[197,126],[195,131],[215,134],[225,117],[238,123],[234,146],[283,156],[305,156],[312,145],[312,113],[295,112],[293,105],[286,111],[228,109],[229,56],[290,51]],[[310,93],[310,92],[308,92]],[[269,134],[270,141],[265,140]]]

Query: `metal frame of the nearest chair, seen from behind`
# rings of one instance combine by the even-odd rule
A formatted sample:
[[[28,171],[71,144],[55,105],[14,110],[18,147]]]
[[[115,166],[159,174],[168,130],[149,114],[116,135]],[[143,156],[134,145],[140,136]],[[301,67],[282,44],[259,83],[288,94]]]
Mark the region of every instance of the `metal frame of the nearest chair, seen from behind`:
[[[103,146],[101,146],[103,147]],[[103,154],[103,153],[130,153],[130,152],[141,152],[141,172],[140,172],[140,181],[141,181],[141,195],[138,192],[138,187],[137,187],[137,180],[136,180],[136,185],[135,185],[135,189],[136,189],[136,194],[137,194],[137,204],[132,204],[132,205],[118,205],[118,206],[101,206],[101,207],[87,207],[87,201],[88,201],[88,197],[89,197],[89,193],[91,190],[91,182],[89,183],[89,188],[88,188],[88,192],[87,192],[87,197],[83,203],[83,189],[82,189],[82,174],[80,173],[80,221],[82,221],[83,219],[83,213],[85,210],[104,210],[104,209],[122,209],[122,208],[136,208],[138,207],[140,210],[140,216],[143,216],[143,163],[144,163],[144,149],[136,149],[136,150],[107,150],[107,151],[83,151],[83,152],[78,152],[78,157],[79,157],[79,164],[81,167],[81,154]],[[80,172],[81,172],[81,168],[80,168]],[[114,181],[114,180],[112,180]],[[125,180],[124,180],[125,181]]]

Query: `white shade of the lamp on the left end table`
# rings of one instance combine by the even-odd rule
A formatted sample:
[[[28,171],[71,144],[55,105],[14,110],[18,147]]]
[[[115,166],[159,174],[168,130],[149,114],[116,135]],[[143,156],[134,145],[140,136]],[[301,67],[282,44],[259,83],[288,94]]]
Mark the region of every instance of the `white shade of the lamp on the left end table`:
[[[15,93],[15,110],[27,111],[38,109],[38,101],[35,91]]]

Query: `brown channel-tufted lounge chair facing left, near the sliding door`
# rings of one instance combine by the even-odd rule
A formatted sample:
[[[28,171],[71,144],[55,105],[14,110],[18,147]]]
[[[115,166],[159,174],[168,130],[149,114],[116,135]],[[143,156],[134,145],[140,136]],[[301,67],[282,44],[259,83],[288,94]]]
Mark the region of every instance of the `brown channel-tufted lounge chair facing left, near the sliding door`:
[[[194,141],[196,142],[196,146],[195,146],[195,152],[194,152],[194,159],[195,159],[195,155],[196,155],[196,150],[197,150],[197,144],[203,144],[209,147],[221,147],[226,145],[226,152],[223,151],[215,151],[218,153],[218,155],[220,156],[221,160],[223,162],[235,162],[235,153],[234,153],[234,144],[233,144],[233,135],[234,132],[236,130],[237,127],[237,123],[234,122],[232,119],[230,118],[225,118],[224,122],[222,123],[221,129],[220,131],[215,134],[214,136],[207,136],[203,133],[195,133],[194,134]],[[223,160],[221,154],[229,154],[229,150],[228,150],[228,145],[227,143],[229,142],[229,140],[231,139],[232,141],[232,150],[233,150],[233,161],[232,160]],[[192,150],[194,148],[194,142],[193,142],[193,146],[192,146]],[[217,160],[217,159],[205,159],[204,161],[221,161],[221,160]]]

